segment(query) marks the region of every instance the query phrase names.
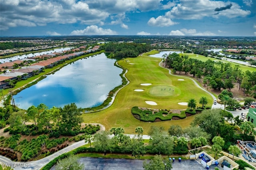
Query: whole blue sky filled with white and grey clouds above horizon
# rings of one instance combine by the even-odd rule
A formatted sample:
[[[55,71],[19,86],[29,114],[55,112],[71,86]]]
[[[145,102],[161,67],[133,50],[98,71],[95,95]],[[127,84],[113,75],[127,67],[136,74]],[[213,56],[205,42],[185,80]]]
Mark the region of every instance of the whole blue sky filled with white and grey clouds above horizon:
[[[0,0],[0,36],[256,36],[256,0]]]

